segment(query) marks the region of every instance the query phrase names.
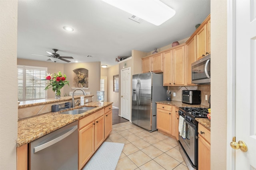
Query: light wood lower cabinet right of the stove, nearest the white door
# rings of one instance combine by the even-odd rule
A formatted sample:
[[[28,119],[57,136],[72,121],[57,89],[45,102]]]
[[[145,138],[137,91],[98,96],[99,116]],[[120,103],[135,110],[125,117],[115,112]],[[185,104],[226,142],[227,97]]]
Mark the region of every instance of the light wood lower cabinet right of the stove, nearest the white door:
[[[210,131],[198,124],[198,170],[210,170]]]

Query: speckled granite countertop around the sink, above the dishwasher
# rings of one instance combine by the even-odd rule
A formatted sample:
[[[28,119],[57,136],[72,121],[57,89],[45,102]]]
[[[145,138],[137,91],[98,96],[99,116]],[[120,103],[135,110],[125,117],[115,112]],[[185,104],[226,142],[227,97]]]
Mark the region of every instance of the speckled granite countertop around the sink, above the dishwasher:
[[[74,121],[87,117],[88,115],[91,115],[100,109],[110,106],[112,103],[113,102],[90,102],[88,104],[85,104],[84,106],[96,106],[96,108],[77,115],[67,115],[60,114],[59,112],[50,112],[22,119],[18,121],[17,147],[30,143]],[[84,106],[78,106],[67,110],[78,109]]]

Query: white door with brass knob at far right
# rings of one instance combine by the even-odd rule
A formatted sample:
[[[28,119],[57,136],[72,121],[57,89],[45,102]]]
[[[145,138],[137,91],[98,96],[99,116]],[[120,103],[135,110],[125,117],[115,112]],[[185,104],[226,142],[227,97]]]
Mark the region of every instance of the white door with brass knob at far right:
[[[256,0],[236,0],[236,170],[256,170]]]

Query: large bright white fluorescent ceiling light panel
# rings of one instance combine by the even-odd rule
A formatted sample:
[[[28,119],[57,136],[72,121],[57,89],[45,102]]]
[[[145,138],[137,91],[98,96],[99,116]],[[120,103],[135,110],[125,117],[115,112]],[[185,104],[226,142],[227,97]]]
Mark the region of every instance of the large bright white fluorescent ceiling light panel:
[[[161,25],[175,15],[175,10],[160,0],[102,0],[154,25]]]

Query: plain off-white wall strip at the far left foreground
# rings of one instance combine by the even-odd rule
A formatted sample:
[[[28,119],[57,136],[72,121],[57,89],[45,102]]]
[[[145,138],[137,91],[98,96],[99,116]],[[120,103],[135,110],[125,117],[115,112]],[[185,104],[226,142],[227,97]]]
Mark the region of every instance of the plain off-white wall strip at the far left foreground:
[[[0,0],[0,169],[16,170],[17,0]]]

